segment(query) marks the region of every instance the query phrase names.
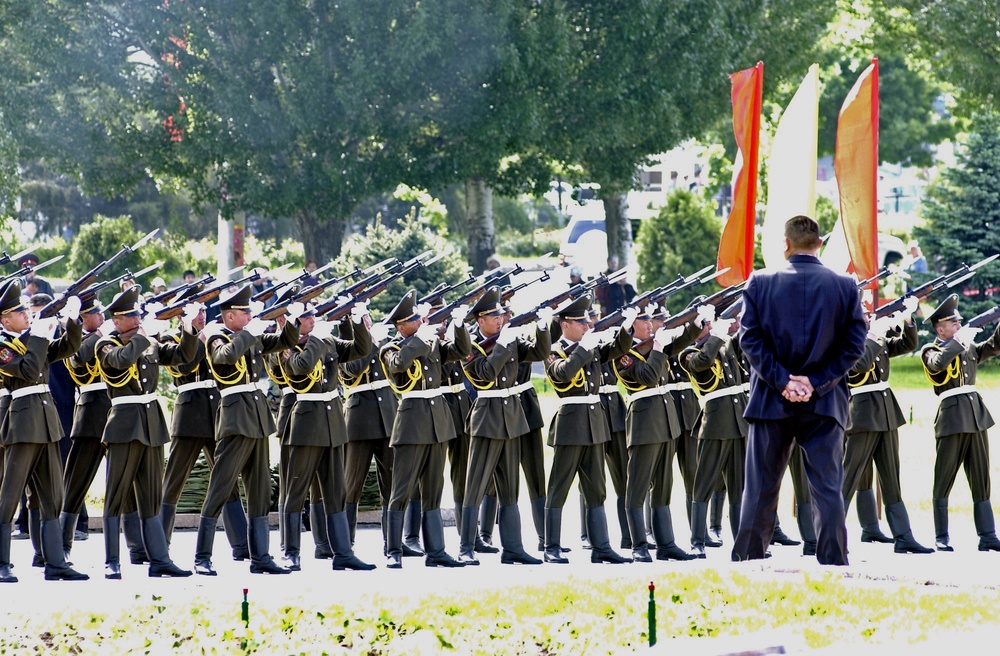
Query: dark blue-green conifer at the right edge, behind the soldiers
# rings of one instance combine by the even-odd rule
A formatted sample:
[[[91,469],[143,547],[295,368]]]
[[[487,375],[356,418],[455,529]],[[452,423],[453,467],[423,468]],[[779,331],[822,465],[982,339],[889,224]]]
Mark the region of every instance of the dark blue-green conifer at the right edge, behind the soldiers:
[[[955,167],[928,190],[923,214],[925,224],[913,232],[933,270],[952,271],[1000,253],[1000,115],[973,120]],[[978,269],[964,287],[962,314],[994,306],[987,290],[998,287],[1000,263]]]

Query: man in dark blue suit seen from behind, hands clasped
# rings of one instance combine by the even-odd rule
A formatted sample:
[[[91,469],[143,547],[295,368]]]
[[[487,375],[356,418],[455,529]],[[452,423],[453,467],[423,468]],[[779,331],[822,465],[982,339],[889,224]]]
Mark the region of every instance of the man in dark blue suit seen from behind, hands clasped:
[[[774,529],[778,486],[793,443],[803,448],[817,522],[816,558],[847,564],[841,494],[847,372],[868,329],[854,281],[823,266],[819,226],[785,223],[785,258],[755,272],[743,292],[740,345],[750,363],[750,423],[740,531],[733,560],[764,558]]]

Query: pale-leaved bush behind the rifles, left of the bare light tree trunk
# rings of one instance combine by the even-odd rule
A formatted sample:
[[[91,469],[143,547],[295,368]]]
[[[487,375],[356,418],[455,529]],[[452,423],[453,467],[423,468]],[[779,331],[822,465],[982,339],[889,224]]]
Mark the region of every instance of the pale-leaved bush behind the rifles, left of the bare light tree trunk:
[[[372,314],[379,317],[392,310],[409,289],[416,289],[417,295],[422,296],[442,282],[461,280],[467,270],[462,256],[443,236],[429,229],[427,223],[411,216],[399,222],[398,230],[389,230],[377,222],[369,226],[363,236],[352,235],[336,259],[334,270],[344,275],[355,266],[364,269],[390,257],[405,262],[428,250],[444,254],[444,257],[405,278],[397,278],[372,299]]]

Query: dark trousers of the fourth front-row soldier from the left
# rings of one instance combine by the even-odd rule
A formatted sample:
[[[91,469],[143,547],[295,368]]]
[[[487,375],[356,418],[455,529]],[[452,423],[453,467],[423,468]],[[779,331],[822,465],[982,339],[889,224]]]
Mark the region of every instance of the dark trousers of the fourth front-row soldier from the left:
[[[285,482],[285,513],[301,512],[306,493],[313,489],[312,503],[323,498],[327,515],[343,512],[347,491],[344,481],[344,445],[288,447],[288,480]]]

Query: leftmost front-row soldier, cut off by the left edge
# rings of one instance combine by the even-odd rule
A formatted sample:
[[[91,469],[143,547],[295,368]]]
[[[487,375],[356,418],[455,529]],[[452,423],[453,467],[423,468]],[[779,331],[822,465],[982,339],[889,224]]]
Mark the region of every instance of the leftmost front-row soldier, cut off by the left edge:
[[[4,450],[0,483],[0,583],[15,583],[11,571],[11,522],[25,488],[31,488],[41,522],[41,551],[46,580],[82,581],[89,577],[66,563],[59,511],[63,505],[63,471],[59,459],[62,425],[49,393],[49,363],[63,360],[80,347],[77,322],[80,300],[67,301],[66,330],[53,340],[57,318],[29,318],[21,303],[21,283],[0,287],[0,377],[10,392],[10,406],[0,423]]]

